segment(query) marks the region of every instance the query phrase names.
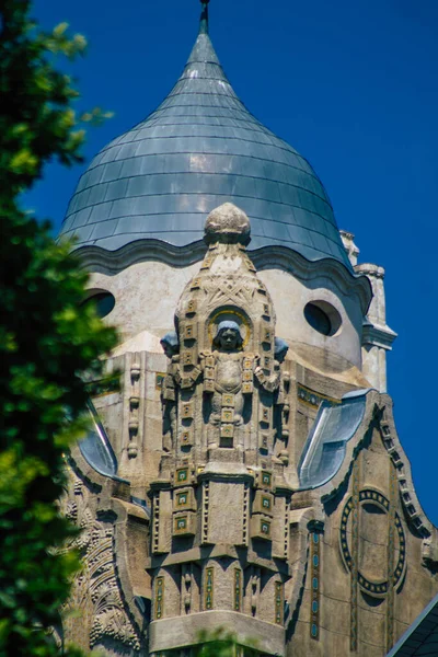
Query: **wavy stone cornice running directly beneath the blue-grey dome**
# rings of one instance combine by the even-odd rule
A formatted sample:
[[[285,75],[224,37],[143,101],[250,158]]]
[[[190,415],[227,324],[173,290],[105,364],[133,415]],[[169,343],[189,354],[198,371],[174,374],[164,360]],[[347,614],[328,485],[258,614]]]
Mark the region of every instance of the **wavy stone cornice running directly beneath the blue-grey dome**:
[[[81,246],[74,251],[74,255],[89,272],[114,276],[131,265],[147,261],[162,262],[172,267],[187,267],[201,261],[206,251],[207,246],[201,241],[187,246],[173,246],[160,240],[137,240],[117,251]],[[368,310],[372,298],[368,278],[351,274],[335,260],[311,262],[287,246],[274,245],[249,251],[249,255],[258,270],[283,269],[303,281],[326,277],[343,295],[356,295],[364,314]]]

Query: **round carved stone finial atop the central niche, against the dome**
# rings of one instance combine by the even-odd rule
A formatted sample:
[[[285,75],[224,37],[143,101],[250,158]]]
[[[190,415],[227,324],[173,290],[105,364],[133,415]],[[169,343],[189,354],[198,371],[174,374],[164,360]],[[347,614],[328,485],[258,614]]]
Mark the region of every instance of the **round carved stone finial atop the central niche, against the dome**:
[[[224,203],[208,215],[204,240],[207,244],[215,242],[249,244],[251,241],[250,219],[232,203]]]

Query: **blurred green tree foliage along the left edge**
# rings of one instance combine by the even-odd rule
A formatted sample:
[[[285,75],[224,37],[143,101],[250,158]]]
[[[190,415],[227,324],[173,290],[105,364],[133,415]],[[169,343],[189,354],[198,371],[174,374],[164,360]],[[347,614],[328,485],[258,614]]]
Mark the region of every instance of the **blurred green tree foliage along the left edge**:
[[[85,42],[67,25],[42,32],[28,11],[0,2],[0,655],[48,657],[47,629],[79,565],[59,550],[76,531],[57,510],[64,453],[83,425],[82,374],[101,374],[115,333],[81,307],[87,275],[71,245],[20,205],[48,161],[80,160],[84,138],[78,92],[57,66]]]

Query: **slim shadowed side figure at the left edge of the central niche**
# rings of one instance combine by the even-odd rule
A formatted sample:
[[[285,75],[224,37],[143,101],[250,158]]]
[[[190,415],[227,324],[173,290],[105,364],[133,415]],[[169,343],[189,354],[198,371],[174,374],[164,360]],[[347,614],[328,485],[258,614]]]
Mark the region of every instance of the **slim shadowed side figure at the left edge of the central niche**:
[[[170,331],[160,341],[164,354],[169,358],[168,373],[161,389],[163,411],[163,450],[170,452],[176,436],[176,389],[175,378],[178,372],[180,343],[175,331]]]

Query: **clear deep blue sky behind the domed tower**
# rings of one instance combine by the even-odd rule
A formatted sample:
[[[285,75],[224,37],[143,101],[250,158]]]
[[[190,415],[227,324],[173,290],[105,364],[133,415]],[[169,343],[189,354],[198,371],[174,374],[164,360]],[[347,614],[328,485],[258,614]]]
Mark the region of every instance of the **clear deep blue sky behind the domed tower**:
[[[44,27],[90,43],[79,108],[115,117],[89,161],[168,94],[197,32],[197,0],[37,0]],[[419,499],[438,525],[437,0],[211,0],[210,35],[250,111],[314,166],[360,262],[387,269],[389,392]],[[47,169],[26,198],[58,229],[82,168]]]

